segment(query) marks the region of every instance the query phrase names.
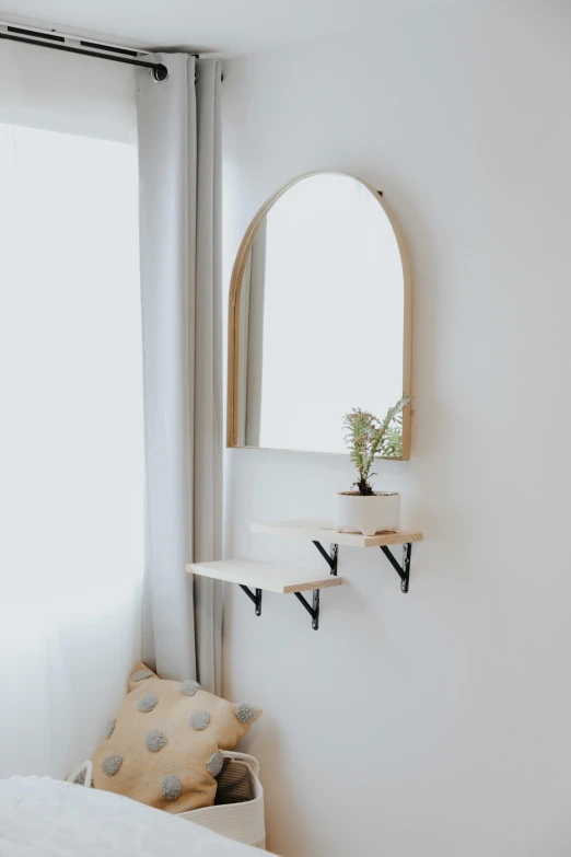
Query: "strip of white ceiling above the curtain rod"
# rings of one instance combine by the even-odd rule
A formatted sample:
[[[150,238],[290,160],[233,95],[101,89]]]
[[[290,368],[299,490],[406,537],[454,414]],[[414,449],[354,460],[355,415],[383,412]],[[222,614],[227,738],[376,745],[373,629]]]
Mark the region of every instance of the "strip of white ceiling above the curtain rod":
[[[454,0],[0,0],[0,20],[223,56],[371,26]],[[458,2],[458,0],[456,0]]]

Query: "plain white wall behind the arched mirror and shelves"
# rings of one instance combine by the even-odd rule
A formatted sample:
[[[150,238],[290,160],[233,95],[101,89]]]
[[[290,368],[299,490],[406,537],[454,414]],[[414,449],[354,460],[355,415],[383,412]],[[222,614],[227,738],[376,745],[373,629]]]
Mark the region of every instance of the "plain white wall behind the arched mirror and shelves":
[[[224,690],[265,709],[246,746],[287,857],[571,853],[570,39],[563,3],[448,4],[225,66],[226,280],[314,169],[382,188],[413,265],[412,459],[380,480],[426,533],[410,593],[341,548],[318,633],[291,597],[256,618],[228,594]],[[329,517],[351,482],[229,451],[226,554],[323,568],[249,523]]]

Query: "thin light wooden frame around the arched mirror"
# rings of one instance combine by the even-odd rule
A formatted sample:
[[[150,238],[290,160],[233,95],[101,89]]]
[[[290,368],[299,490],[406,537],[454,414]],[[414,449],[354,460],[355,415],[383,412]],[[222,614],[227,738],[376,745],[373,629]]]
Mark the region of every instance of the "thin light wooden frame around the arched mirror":
[[[261,208],[257,211],[256,216],[252,220],[249,227],[246,230],[242,243],[236,254],[234,267],[232,269],[232,279],[230,281],[230,298],[229,298],[229,314],[228,314],[228,410],[226,410],[226,447],[235,449],[263,449],[261,447],[240,447],[237,443],[238,436],[238,394],[240,394],[240,373],[238,373],[238,331],[240,331],[240,299],[242,292],[242,281],[244,278],[244,270],[247,265],[248,256],[254,245],[254,241],[260,229],[261,222],[270,208],[278,201],[283,194],[302,182],[304,178],[310,178],[314,175],[342,175],[349,178],[353,178],[356,182],[364,185],[370,190],[378,205],[387,216],[393,231],[396,235],[398,250],[400,253],[400,260],[403,264],[403,288],[404,288],[404,301],[403,301],[403,394],[411,395],[411,371],[412,371],[412,347],[411,347],[411,325],[412,325],[412,288],[410,282],[410,263],[408,259],[408,253],[405,244],[405,239],[395,217],[383,198],[382,190],[375,190],[375,188],[362,178],[350,173],[343,173],[336,170],[318,170],[312,173],[304,173],[303,175],[293,178],[288,184],[280,187],[269,199],[267,199]],[[375,415],[381,419],[384,414]],[[403,455],[400,459],[387,459],[387,461],[408,461],[410,459],[410,422],[411,422],[411,405],[410,403],[403,410]],[[305,450],[288,450],[289,452],[305,452]],[[311,450],[307,450],[311,451]],[[337,455],[343,453],[318,453],[327,455]]]

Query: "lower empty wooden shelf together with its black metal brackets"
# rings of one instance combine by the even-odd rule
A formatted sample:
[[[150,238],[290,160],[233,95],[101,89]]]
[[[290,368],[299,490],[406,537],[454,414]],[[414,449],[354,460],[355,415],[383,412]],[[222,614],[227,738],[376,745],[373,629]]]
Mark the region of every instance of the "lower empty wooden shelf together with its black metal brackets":
[[[261,615],[261,593],[293,593],[312,617],[312,627],[319,627],[319,590],[341,586],[342,578],[336,575],[319,576],[292,566],[280,566],[259,559],[221,559],[214,563],[190,563],[186,570],[201,577],[224,580],[237,586],[254,602],[256,616]],[[250,587],[255,592],[252,592]],[[313,590],[313,605],[301,594]]]

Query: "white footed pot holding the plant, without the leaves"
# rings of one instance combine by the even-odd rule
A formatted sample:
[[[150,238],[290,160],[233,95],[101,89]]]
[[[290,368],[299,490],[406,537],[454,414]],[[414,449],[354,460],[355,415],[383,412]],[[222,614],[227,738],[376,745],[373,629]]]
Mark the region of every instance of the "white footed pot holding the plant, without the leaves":
[[[363,535],[395,532],[400,526],[400,495],[395,491],[375,491],[362,497],[358,491],[337,495],[335,530]]]

